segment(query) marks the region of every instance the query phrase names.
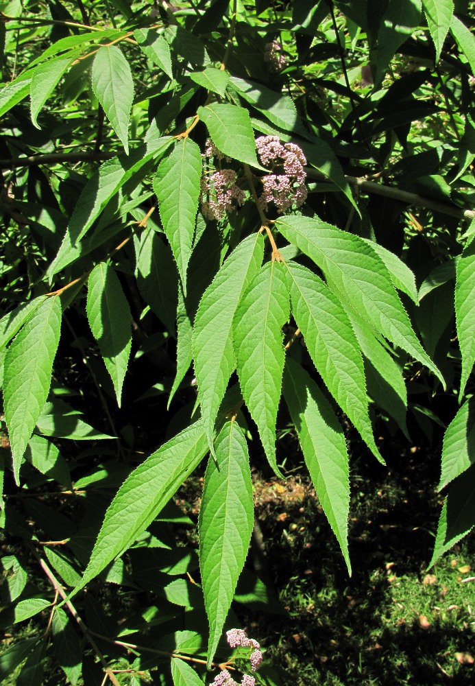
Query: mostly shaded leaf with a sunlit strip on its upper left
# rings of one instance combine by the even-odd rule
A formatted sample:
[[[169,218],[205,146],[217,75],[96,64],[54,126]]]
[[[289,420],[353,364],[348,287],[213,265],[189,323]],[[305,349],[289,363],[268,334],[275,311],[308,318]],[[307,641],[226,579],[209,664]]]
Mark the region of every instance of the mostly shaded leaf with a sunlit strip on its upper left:
[[[136,279],[145,303],[173,335],[178,305],[178,274],[169,246],[153,228],[147,228],[141,236]]]

